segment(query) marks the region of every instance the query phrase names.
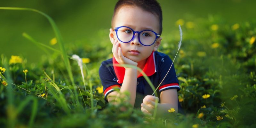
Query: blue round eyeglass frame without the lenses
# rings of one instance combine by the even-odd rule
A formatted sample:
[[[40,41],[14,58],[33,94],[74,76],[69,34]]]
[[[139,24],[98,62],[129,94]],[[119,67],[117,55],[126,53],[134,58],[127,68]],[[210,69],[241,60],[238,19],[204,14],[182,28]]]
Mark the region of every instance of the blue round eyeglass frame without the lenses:
[[[135,33],[138,33],[138,38],[139,38],[140,44],[142,44],[141,41],[140,41],[140,33],[144,32],[144,31],[151,31],[151,32],[153,32],[153,33],[156,35],[156,39],[160,37],[160,35],[159,35],[158,33],[154,32],[154,31],[152,31],[152,30],[145,29],[145,30],[141,30],[141,31],[134,31],[134,30],[133,30],[132,28],[130,28],[130,27],[127,27],[127,26],[120,26],[120,27],[114,28],[114,30],[116,31],[116,37],[117,37],[117,39],[118,39],[119,41],[121,41],[121,40],[120,40],[119,37],[118,37],[117,31],[118,31],[119,28],[122,28],[122,27],[129,28],[129,29],[132,30],[132,33],[133,33],[132,39],[134,38]],[[131,39],[130,41],[127,41],[127,42],[123,42],[123,41],[121,41],[121,42],[123,42],[123,43],[129,43],[129,42],[132,41],[132,39]],[[150,44],[150,45],[145,45],[145,44],[142,44],[142,45],[144,45],[144,46],[151,46],[151,45],[153,45],[153,44],[156,42],[156,39],[155,39],[155,41],[154,41],[152,44]]]

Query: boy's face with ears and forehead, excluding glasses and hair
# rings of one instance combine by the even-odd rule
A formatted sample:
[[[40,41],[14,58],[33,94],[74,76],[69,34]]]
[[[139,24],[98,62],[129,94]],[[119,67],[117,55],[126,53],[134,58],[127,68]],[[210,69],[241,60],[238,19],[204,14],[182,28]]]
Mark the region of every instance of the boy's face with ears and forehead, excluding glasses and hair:
[[[159,21],[158,17],[150,12],[143,11],[137,6],[122,6],[116,12],[113,27],[127,26],[135,31],[141,31],[145,29],[150,29],[159,33]],[[109,38],[112,44],[116,37],[116,32],[110,29]],[[146,60],[152,51],[156,51],[161,43],[162,38],[157,38],[156,42],[151,46],[144,46],[140,44],[138,33],[135,33],[132,41],[128,43],[123,43],[118,40],[122,53],[125,57],[133,60],[135,62],[140,62]]]

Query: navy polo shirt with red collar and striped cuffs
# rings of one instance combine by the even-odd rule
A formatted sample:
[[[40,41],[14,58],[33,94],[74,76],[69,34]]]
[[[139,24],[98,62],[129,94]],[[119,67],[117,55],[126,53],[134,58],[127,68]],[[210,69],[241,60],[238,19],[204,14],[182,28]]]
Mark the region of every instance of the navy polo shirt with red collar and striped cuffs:
[[[113,57],[111,59],[103,61],[99,69],[100,80],[103,85],[103,91],[106,101],[108,101],[108,94],[115,91],[115,88],[120,89],[124,80],[125,68],[115,66],[115,64],[119,63]],[[155,88],[157,88],[157,86],[161,83],[164,76],[168,72],[171,64],[172,60],[168,55],[156,51],[152,52],[151,55],[148,57],[143,71],[149,77]],[[158,88],[158,96],[160,96],[160,92],[173,88],[176,88],[177,91],[180,90],[179,81],[176,76],[174,65],[172,65],[171,70]],[[134,105],[135,108],[140,107],[140,104],[142,103],[143,98],[146,95],[152,95],[152,93],[154,92],[149,86],[148,82],[142,76],[142,74],[137,77],[136,91],[137,93]]]

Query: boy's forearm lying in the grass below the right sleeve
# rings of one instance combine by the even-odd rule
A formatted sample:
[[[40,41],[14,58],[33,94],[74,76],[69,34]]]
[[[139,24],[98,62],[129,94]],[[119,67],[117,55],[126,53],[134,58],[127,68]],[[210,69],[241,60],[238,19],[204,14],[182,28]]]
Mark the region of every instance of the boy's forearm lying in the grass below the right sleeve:
[[[157,116],[162,116],[163,114],[169,113],[168,110],[174,108],[175,112],[178,113],[178,106],[169,103],[159,103],[157,107]]]

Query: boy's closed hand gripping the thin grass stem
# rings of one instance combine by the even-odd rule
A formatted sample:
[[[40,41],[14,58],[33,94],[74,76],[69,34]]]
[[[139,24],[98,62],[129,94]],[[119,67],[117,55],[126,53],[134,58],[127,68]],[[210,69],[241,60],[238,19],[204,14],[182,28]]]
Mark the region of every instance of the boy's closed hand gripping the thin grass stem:
[[[158,103],[159,98],[151,95],[144,97],[143,102],[141,103],[141,111],[149,116],[152,116],[155,109],[155,104]]]

